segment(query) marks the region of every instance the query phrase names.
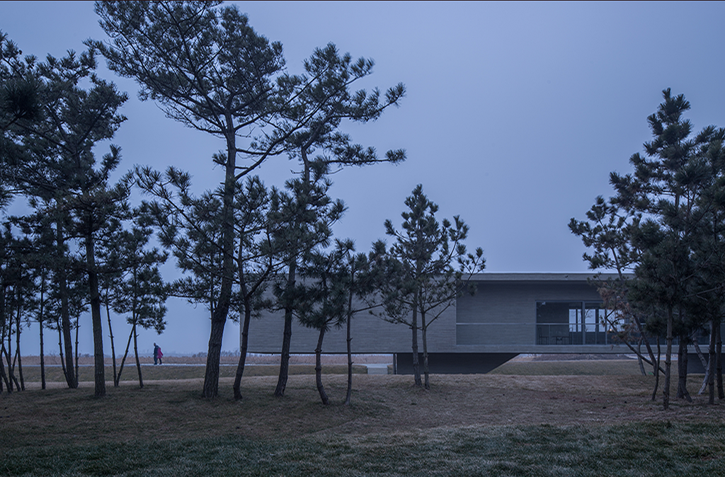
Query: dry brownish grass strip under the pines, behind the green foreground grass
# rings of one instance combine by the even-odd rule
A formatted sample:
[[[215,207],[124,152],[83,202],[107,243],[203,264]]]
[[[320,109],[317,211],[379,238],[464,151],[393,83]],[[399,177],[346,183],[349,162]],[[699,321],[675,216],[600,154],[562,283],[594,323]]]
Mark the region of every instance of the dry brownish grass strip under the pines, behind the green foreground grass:
[[[611,363],[616,365],[616,363]],[[581,363],[579,366],[581,367]],[[170,368],[169,368],[170,369]],[[725,406],[695,396],[663,411],[650,401],[653,377],[436,375],[429,391],[411,376],[355,375],[352,405],[341,405],[346,377],[323,378],[332,404],[320,404],[312,375],[291,376],[286,396],[273,397],[275,376],[243,380],[244,399],[232,397],[232,378],[220,381],[220,397],[199,397],[200,379],[107,384],[94,399],[93,384],[0,397],[0,448],[138,439],[195,439],[210,435],[254,439],[324,434],[380,434],[465,426],[567,426],[667,419],[725,423]],[[695,395],[697,379],[690,380]],[[30,384],[29,384],[30,386]],[[37,383],[31,386],[37,388]],[[674,389],[673,389],[674,394]]]

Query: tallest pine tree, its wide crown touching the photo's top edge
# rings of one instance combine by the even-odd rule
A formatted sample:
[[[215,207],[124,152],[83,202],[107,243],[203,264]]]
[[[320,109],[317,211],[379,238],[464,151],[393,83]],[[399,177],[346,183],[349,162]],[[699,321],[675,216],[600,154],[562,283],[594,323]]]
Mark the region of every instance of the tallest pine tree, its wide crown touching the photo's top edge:
[[[110,43],[91,42],[109,68],[134,78],[141,99],[158,101],[174,120],[222,138],[225,152],[214,162],[224,168],[220,234],[223,273],[210,331],[204,397],[216,397],[224,325],[233,299],[236,183],[269,154],[238,144],[270,119],[276,109],[273,79],[283,65],[282,47],[257,35],[235,6],[216,2],[107,1],[96,4]],[[242,153],[249,159],[238,162]]]

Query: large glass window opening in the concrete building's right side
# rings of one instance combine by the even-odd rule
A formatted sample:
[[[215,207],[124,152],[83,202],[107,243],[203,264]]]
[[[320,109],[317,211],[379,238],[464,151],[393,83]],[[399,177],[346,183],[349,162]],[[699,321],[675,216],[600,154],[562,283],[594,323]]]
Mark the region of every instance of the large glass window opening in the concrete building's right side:
[[[602,302],[537,302],[536,344],[610,344],[605,313]]]

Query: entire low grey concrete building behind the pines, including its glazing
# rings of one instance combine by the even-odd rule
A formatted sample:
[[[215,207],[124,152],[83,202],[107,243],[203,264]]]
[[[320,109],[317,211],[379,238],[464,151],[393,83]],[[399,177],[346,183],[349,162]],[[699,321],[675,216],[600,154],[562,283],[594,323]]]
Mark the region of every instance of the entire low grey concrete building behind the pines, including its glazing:
[[[431,373],[486,373],[522,353],[628,353],[605,326],[602,299],[588,282],[591,277],[587,273],[474,275],[476,294],[461,296],[428,328]],[[253,320],[249,352],[279,353],[282,332],[281,312]],[[352,320],[352,352],[394,354],[397,373],[411,373],[411,333],[405,325],[361,312]],[[317,339],[318,331],[295,322],[291,352],[313,353]],[[422,352],[422,343],[419,349]],[[346,350],[344,329],[326,335],[324,353]]]

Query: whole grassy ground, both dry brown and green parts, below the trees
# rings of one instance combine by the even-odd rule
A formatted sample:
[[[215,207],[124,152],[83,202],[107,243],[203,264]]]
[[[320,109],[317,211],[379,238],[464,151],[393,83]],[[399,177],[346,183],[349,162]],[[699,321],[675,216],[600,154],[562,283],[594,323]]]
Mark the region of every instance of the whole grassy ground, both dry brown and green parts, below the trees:
[[[109,383],[102,399],[92,383],[3,394],[0,476],[720,476],[725,468],[724,406],[695,397],[663,411],[636,362],[511,362],[488,375],[432,376],[430,391],[410,376],[359,374],[351,406],[341,405],[345,376],[329,374],[328,407],[302,369],[281,399],[272,396],[275,376],[245,373],[236,402],[232,378],[206,400],[199,378],[161,368],[144,368],[144,389]]]

